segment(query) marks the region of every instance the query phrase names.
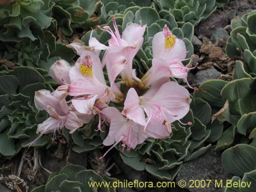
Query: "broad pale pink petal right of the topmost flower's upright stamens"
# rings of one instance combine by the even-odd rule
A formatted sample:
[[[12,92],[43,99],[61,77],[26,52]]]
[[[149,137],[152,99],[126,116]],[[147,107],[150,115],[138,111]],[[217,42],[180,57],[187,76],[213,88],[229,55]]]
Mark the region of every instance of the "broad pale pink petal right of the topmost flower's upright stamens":
[[[134,44],[143,38],[145,28],[146,25],[141,26],[132,23],[124,29],[122,33],[122,39],[125,40],[128,45]]]

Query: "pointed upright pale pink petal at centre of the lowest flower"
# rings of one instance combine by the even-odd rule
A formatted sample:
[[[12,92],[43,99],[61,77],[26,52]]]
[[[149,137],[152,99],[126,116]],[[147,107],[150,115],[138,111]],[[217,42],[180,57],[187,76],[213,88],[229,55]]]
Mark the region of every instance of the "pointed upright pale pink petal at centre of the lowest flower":
[[[145,125],[145,114],[143,108],[139,105],[140,99],[134,88],[131,88],[126,96],[123,107],[123,114],[134,122]]]

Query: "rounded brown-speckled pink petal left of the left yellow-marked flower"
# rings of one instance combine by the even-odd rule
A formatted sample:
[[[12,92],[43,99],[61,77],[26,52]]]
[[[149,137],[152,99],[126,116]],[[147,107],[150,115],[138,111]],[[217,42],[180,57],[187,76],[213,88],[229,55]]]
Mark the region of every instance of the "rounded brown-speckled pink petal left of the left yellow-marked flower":
[[[50,76],[59,84],[70,83],[69,70],[71,66],[66,60],[57,60],[50,67]]]

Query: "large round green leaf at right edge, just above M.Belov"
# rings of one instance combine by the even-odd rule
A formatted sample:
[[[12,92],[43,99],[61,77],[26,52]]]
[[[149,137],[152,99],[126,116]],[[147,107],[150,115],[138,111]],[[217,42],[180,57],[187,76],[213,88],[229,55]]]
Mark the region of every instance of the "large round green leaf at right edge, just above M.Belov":
[[[228,173],[243,176],[255,169],[255,157],[256,148],[247,144],[237,144],[223,152],[221,162]]]

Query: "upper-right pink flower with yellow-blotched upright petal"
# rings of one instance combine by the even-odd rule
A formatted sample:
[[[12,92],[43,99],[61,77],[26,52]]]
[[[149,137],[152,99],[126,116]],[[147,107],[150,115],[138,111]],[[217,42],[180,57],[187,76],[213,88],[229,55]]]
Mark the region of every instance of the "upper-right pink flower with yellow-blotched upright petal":
[[[189,88],[197,90],[197,88],[192,88],[187,82],[188,70],[196,68],[197,65],[194,68],[191,68],[191,66],[185,67],[182,63],[182,61],[194,59],[195,57],[191,56],[190,58],[185,58],[187,51],[184,41],[173,35],[166,25],[164,26],[163,31],[154,36],[152,49],[154,59],[161,58],[166,62],[159,62],[159,60],[155,61],[154,67],[152,66],[152,69],[150,69],[145,74],[145,77],[142,78],[144,88],[147,88],[147,86],[145,86],[146,84],[150,84],[148,81],[154,82],[157,78],[166,77],[169,72],[170,76],[182,78]],[[153,76],[154,73],[164,70],[166,70],[165,73]]]

